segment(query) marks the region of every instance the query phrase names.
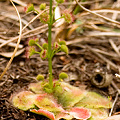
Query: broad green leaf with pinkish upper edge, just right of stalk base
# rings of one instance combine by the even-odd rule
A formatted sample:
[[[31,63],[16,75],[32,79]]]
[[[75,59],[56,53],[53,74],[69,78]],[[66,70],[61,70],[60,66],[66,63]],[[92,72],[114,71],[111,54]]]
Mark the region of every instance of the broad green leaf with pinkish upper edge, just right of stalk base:
[[[58,103],[62,104],[64,107],[74,106],[86,94],[84,90],[80,90],[79,88],[65,82],[61,82],[60,86],[63,90],[59,91],[59,88],[56,88],[54,96],[58,99]]]

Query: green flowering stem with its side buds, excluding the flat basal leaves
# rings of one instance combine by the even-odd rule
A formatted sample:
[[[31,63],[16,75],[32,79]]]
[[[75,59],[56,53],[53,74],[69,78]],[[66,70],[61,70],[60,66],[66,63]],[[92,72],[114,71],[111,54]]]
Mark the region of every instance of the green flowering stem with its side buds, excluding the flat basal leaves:
[[[64,0],[56,0],[56,2],[57,2],[57,4],[56,4],[56,7],[57,7],[58,4],[63,3]],[[68,47],[66,46],[65,41],[58,40],[53,45],[51,44],[52,43],[51,28],[52,28],[53,23],[56,22],[56,20],[54,20],[54,14],[55,14],[56,7],[54,9],[52,9],[52,0],[50,0],[49,13],[48,13],[48,11],[45,11],[40,15],[40,21],[44,24],[48,24],[48,28],[49,28],[48,29],[48,43],[44,43],[42,46],[40,46],[38,44],[38,39],[36,39],[36,40],[31,39],[29,41],[29,46],[31,46],[29,49],[29,56],[32,56],[33,54],[39,54],[41,59],[43,59],[43,60],[48,59],[48,66],[49,66],[48,81],[49,81],[49,83],[45,86],[44,90],[46,90],[46,92],[49,91],[49,93],[53,92],[52,58],[59,51],[63,51],[66,54],[68,54]],[[45,10],[46,4],[42,3],[39,8],[41,11]],[[36,11],[34,9],[33,4],[30,4],[28,6],[27,12],[30,12],[30,11]],[[38,13],[38,11],[37,11],[37,13]],[[65,11],[61,18],[65,18],[65,21],[67,21],[68,23],[72,22],[72,16],[68,11]],[[38,46],[41,51],[40,52],[35,51],[34,46]],[[62,74],[64,74],[64,75],[62,75]],[[61,73],[61,75],[59,75],[59,80],[63,79],[63,78],[61,78],[61,76],[66,76],[66,75],[65,75],[65,73]]]

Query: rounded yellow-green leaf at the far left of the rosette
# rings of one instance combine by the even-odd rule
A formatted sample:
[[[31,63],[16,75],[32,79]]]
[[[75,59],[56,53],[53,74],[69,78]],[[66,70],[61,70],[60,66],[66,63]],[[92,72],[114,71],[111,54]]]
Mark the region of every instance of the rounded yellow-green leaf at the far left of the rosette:
[[[36,94],[30,92],[30,91],[22,91],[19,94],[17,94],[15,97],[13,97],[13,105],[15,107],[18,107],[22,110],[28,110],[30,108],[34,108],[34,101],[36,99]]]

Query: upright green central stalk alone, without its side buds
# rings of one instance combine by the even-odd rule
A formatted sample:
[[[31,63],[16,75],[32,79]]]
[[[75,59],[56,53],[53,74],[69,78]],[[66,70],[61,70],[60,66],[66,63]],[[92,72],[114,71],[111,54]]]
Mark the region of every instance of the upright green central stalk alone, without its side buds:
[[[51,36],[51,29],[52,29],[52,24],[53,24],[53,17],[52,17],[52,0],[50,0],[50,10],[49,10],[49,15],[50,15],[50,22],[48,24],[48,66],[49,66],[49,86],[52,89],[53,88],[53,80],[52,80],[52,48],[51,48],[51,41],[52,41],[52,36]]]

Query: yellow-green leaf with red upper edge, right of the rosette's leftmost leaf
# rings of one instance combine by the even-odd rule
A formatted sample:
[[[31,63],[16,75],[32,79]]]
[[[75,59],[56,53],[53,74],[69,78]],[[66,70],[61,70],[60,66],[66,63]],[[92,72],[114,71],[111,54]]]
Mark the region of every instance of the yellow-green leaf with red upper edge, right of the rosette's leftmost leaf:
[[[64,109],[59,104],[57,104],[57,101],[49,94],[37,96],[34,104],[38,108],[45,109],[51,112],[64,111]]]

